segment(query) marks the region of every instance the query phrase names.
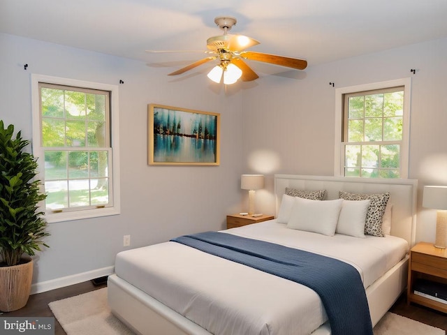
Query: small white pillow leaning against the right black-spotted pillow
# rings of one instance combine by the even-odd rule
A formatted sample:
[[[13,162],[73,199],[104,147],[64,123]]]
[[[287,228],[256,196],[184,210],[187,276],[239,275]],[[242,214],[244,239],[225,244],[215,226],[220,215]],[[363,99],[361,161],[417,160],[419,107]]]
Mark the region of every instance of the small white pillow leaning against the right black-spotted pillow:
[[[344,200],[335,232],[353,237],[365,237],[369,202],[371,200]]]

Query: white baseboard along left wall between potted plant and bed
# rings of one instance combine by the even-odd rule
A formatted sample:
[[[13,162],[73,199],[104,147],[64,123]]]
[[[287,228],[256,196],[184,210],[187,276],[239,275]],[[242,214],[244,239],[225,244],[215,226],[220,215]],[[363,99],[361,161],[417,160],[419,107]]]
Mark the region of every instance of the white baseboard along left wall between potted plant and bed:
[[[43,281],[42,283],[35,283],[31,285],[31,295],[54,290],[56,288],[64,288],[65,286],[82,283],[102,276],[108,276],[113,274],[114,271],[115,267],[113,266],[103,267],[102,269],[82,272],[81,274],[73,274],[71,276],[52,279],[50,281]]]

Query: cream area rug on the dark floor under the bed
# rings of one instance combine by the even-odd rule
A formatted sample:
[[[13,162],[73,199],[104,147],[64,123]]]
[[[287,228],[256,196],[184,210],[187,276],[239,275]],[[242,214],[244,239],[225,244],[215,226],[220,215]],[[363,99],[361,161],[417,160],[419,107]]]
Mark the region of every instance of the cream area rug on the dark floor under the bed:
[[[48,304],[68,335],[133,335],[110,312],[107,288]],[[374,335],[445,335],[446,332],[423,323],[386,313],[374,327]]]

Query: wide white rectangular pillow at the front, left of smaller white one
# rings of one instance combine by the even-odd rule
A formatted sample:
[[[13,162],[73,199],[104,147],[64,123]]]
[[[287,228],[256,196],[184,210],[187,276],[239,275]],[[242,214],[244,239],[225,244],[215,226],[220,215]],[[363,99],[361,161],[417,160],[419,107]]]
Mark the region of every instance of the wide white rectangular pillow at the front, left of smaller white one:
[[[343,199],[309,200],[295,198],[287,228],[333,236]]]

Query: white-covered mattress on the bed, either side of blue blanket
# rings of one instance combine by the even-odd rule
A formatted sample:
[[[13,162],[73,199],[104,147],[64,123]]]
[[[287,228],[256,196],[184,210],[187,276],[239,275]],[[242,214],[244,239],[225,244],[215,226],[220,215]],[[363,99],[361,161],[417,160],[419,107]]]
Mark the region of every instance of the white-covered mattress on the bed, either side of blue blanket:
[[[408,251],[398,237],[327,237],[275,220],[224,232],[344,260],[365,288]],[[115,273],[212,334],[310,334],[327,320],[313,290],[176,242],[119,253]]]

